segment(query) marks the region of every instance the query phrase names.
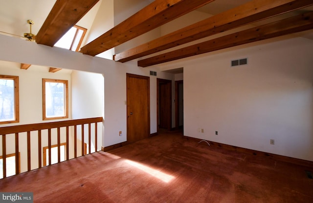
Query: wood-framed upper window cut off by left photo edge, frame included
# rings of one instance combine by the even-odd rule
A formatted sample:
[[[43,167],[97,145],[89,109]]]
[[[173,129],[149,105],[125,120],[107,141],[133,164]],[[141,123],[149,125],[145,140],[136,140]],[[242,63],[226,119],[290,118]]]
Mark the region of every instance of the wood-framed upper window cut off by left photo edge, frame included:
[[[0,124],[19,122],[19,77],[0,75]]]

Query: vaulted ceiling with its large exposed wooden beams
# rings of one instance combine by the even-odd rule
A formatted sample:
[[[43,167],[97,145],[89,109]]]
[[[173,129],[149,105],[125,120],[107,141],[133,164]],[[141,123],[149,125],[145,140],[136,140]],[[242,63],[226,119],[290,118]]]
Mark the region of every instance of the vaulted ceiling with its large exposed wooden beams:
[[[113,59],[116,62],[137,60],[138,66],[148,67],[299,32],[303,37],[313,39],[312,0],[134,1],[144,1],[146,6],[85,44],[81,52],[86,55],[98,55],[194,10],[211,15],[174,32],[128,47],[124,51],[115,53]],[[23,2],[19,0],[1,2],[0,23],[4,26],[0,31],[21,35],[27,31],[22,24],[25,24],[27,19],[33,19],[40,25],[40,29],[39,26],[33,29],[33,33],[37,33],[36,42],[53,46],[68,29],[84,18],[89,25],[83,27],[89,29],[96,13],[101,12],[98,10],[100,3],[106,3],[105,0],[45,0],[44,2],[29,0],[27,6],[22,5]],[[36,19],[32,15],[40,17]],[[21,28],[23,31],[20,30]],[[221,36],[221,33],[224,35]],[[201,39],[202,41],[199,42]]]

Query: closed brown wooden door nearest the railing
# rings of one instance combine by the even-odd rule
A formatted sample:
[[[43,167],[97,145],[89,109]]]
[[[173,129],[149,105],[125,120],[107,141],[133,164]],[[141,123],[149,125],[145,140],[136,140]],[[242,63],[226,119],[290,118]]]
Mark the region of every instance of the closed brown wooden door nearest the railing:
[[[150,136],[150,78],[127,74],[127,142]]]

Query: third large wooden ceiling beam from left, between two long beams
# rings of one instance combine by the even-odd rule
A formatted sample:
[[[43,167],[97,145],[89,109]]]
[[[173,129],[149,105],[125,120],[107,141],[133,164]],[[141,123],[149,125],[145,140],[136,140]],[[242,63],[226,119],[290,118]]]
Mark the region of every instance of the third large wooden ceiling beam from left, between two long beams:
[[[203,37],[224,32],[257,20],[276,16],[313,5],[312,0],[252,0],[176,32],[154,39],[113,56],[115,61],[126,62],[166,50]]]

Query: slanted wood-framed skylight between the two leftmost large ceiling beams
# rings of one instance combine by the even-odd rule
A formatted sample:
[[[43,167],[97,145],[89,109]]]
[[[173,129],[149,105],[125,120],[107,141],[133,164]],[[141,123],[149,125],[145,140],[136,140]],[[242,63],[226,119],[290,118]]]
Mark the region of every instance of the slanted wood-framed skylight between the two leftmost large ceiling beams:
[[[78,52],[87,29],[74,25],[54,46]]]

